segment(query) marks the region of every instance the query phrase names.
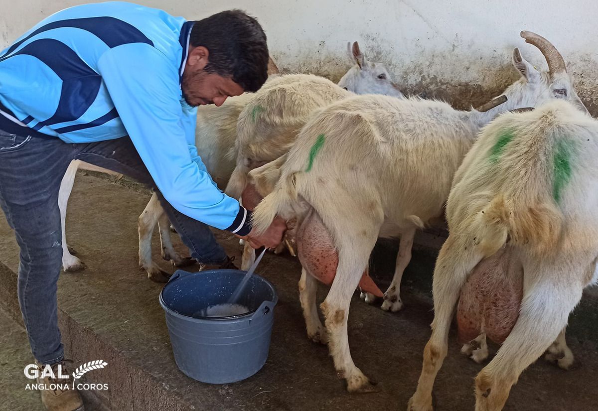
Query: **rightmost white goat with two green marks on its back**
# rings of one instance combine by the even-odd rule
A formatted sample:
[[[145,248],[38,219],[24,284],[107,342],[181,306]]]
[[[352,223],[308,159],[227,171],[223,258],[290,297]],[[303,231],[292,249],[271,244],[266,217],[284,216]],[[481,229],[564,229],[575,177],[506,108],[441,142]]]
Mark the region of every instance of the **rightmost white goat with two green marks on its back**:
[[[450,234],[434,270],[432,336],[410,410],[432,410],[457,299],[483,263],[508,259],[506,276],[521,293],[512,330],[475,379],[476,410],[502,410],[520,373],[553,341],[564,343],[569,313],[596,280],[598,258],[598,121],[580,108],[554,101],[500,116],[457,171]]]

